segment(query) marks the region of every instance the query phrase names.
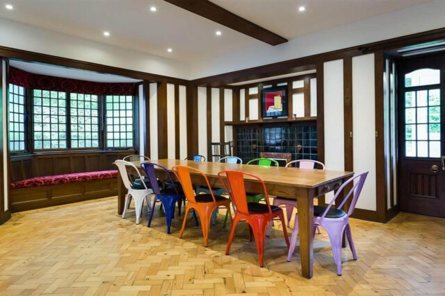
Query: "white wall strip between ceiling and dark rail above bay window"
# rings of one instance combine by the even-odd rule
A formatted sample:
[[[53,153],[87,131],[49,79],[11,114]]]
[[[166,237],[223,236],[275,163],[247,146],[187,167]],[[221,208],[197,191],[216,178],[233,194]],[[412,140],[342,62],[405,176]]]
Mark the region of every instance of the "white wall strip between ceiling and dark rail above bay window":
[[[0,18],[0,46],[113,67],[190,78],[190,65]]]

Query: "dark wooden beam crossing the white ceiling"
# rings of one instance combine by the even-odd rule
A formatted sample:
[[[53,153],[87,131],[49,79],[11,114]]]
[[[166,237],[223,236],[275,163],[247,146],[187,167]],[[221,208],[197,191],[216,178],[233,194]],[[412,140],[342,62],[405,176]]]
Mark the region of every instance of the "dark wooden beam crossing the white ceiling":
[[[165,1],[273,46],[288,41],[286,38],[270,32],[265,28],[252,23],[252,21],[243,19],[243,17],[238,17],[238,15],[217,6],[215,3],[212,3],[209,0]]]

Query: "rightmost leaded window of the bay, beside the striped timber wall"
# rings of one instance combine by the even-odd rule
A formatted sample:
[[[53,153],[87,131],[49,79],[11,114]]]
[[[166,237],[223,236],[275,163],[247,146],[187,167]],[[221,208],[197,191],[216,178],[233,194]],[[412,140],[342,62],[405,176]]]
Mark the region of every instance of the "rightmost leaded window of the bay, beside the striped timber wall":
[[[106,96],[107,148],[133,147],[133,96]]]

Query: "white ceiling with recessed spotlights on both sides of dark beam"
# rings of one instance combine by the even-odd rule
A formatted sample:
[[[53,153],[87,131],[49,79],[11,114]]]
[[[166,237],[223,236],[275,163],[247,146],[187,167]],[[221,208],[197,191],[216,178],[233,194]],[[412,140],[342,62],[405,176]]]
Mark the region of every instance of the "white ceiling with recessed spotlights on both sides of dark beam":
[[[216,0],[236,15],[289,40],[427,0]],[[10,0],[0,17],[175,60],[208,60],[270,46],[161,0]],[[157,11],[150,11],[156,6]],[[305,12],[298,12],[305,6]],[[216,31],[222,35],[216,36]],[[104,31],[111,36],[105,37]],[[56,44],[54,44],[56,46]],[[173,51],[168,53],[167,49]]]

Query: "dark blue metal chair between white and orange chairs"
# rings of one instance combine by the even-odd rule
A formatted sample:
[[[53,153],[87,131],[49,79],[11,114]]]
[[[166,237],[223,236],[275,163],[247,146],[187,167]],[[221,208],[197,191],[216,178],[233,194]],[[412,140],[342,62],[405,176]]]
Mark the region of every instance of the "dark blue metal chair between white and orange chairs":
[[[165,220],[167,222],[167,233],[170,234],[170,226],[172,225],[172,218],[175,218],[176,203],[178,204],[179,216],[181,216],[181,202],[186,198],[186,196],[184,195],[184,191],[182,191],[182,188],[180,186],[177,186],[175,182],[173,182],[172,175],[170,175],[170,172],[168,171],[167,168],[164,168],[159,164],[153,164],[152,162],[143,162],[142,164],[140,164],[140,166],[147,174],[147,177],[149,179],[149,184],[152,187],[152,191],[154,193],[152,209],[154,209],[156,202],[161,202],[165,213]],[[163,169],[164,173],[168,175],[168,177],[170,178],[170,182],[172,184],[171,186],[165,189],[159,188],[159,184],[156,178],[155,166],[157,168]],[[150,218],[148,220],[147,227],[150,227],[150,225],[152,224],[153,214],[154,211],[150,213]]]

